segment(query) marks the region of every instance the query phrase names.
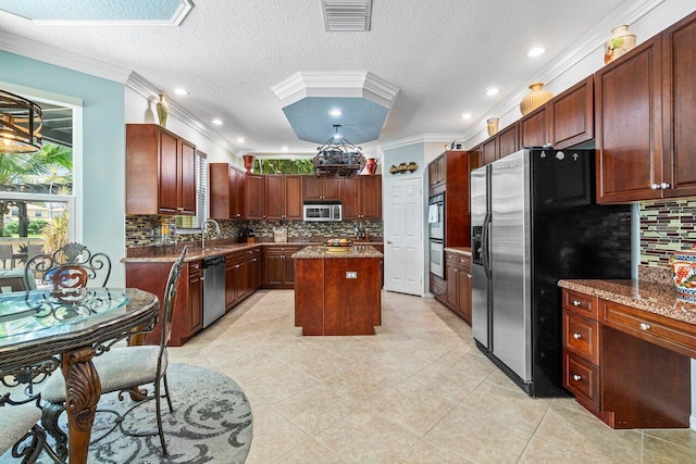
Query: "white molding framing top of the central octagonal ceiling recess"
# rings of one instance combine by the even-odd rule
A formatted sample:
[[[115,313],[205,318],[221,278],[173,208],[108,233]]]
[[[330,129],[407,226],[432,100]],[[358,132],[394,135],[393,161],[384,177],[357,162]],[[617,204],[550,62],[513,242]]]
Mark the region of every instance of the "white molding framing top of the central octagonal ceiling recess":
[[[271,87],[283,108],[307,97],[364,98],[390,109],[400,89],[369,71],[300,71]]]

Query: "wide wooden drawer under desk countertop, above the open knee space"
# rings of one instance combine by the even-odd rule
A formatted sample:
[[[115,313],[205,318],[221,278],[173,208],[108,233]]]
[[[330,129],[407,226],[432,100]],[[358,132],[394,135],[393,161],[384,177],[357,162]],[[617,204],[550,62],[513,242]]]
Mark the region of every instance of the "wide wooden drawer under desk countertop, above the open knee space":
[[[689,358],[696,358],[696,326],[647,311],[601,301],[601,323]]]

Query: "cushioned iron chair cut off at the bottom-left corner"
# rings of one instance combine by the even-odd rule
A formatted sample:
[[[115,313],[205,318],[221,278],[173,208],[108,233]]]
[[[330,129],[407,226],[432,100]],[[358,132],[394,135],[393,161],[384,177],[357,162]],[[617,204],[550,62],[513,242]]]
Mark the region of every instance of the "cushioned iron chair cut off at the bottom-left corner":
[[[35,403],[0,407],[0,455],[12,449],[12,456],[23,457],[23,464],[35,462],[46,444],[46,431],[37,424],[40,418]]]

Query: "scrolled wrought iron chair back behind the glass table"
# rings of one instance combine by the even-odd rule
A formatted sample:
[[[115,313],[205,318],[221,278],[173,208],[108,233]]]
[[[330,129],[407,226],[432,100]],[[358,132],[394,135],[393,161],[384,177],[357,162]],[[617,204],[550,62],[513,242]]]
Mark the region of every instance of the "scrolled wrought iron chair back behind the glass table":
[[[105,253],[92,254],[87,247],[76,242],[64,244],[52,254],[28,258],[27,253],[24,266],[27,288],[32,288],[32,279],[39,278],[39,286],[47,285],[62,292],[87,287],[88,280],[104,287],[110,275],[111,260]]]

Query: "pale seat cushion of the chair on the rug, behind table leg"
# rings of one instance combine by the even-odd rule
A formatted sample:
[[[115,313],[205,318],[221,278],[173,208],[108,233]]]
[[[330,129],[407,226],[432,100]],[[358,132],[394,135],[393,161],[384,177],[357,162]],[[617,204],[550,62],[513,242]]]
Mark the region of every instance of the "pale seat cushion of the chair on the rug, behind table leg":
[[[110,393],[154,381],[159,352],[159,346],[123,347],[96,356],[92,361],[101,381],[101,392]],[[166,365],[164,351],[162,371],[166,369]],[[65,401],[65,380],[60,371],[46,380],[41,388],[41,399],[51,403]]]

